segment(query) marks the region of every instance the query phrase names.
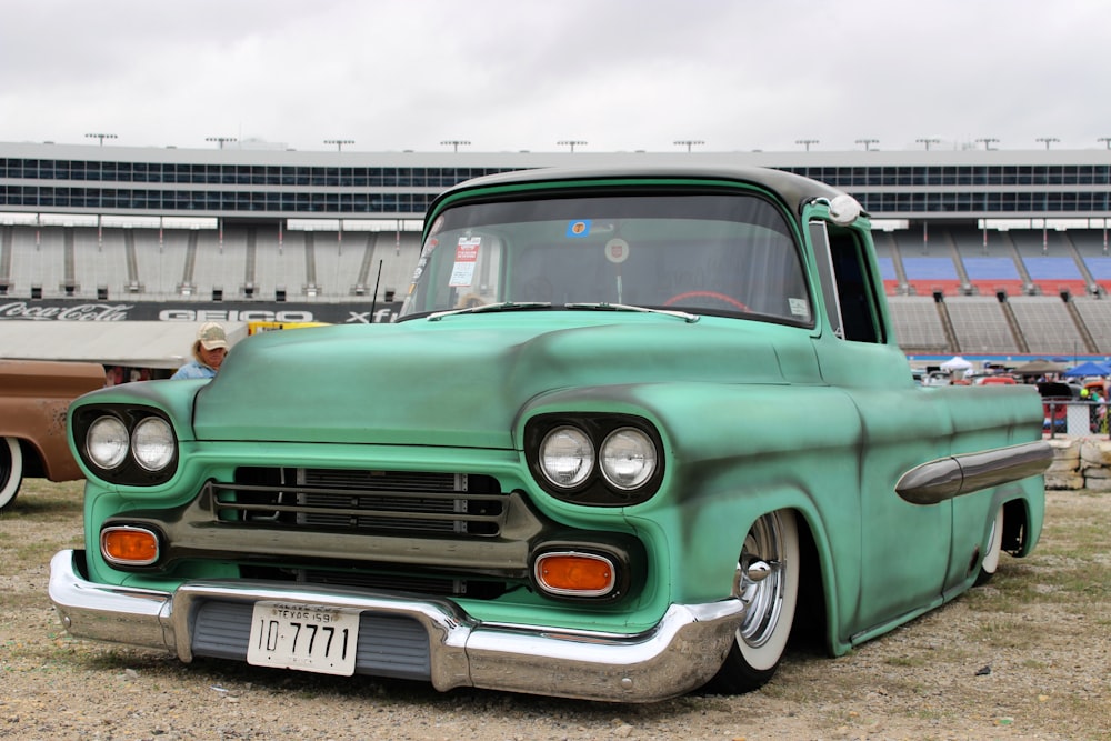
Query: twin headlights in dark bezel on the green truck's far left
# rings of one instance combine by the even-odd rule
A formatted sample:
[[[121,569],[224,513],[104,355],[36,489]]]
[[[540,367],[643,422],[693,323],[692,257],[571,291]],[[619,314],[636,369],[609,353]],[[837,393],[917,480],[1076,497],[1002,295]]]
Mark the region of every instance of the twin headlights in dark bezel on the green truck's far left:
[[[169,481],[178,470],[179,445],[173,423],[166,412],[153,407],[78,408],[71,418],[70,434],[81,462],[109,483],[152,487]],[[98,453],[97,448],[110,443],[113,435],[122,454]]]

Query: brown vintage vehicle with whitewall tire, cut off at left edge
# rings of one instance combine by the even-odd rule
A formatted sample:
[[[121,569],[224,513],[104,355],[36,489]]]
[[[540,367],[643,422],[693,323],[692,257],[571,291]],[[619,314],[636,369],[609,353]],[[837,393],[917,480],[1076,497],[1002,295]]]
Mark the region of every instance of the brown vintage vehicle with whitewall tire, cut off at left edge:
[[[66,410],[104,385],[97,363],[0,360],[0,510],[24,477],[82,479],[66,435]]]

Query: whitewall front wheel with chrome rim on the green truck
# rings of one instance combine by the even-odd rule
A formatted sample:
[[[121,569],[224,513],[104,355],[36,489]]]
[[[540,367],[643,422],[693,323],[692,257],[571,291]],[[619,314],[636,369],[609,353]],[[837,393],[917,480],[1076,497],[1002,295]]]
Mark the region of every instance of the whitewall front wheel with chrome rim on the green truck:
[[[733,594],[748,605],[748,612],[713,679],[714,689],[734,694],[749,692],[775,673],[794,623],[799,571],[794,514],[764,514],[752,524],[741,548]]]

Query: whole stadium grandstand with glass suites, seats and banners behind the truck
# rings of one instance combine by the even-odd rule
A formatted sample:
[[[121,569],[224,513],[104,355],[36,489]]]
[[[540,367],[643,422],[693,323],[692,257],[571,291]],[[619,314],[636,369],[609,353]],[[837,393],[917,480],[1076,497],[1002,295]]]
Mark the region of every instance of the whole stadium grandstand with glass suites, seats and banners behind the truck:
[[[770,167],[853,194],[873,220],[894,330],[911,356],[1111,357],[1103,148],[481,153],[0,142],[0,327],[389,321],[424,211],[446,188],[629,162]]]

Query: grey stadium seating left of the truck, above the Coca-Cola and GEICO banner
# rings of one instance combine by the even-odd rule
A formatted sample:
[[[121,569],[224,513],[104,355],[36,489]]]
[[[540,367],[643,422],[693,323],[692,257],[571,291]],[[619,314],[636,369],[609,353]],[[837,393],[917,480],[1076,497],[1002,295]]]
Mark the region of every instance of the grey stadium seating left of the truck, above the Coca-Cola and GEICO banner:
[[[350,300],[401,296],[416,232],[2,227],[7,296],[113,300]],[[33,289],[33,292],[32,292]]]

